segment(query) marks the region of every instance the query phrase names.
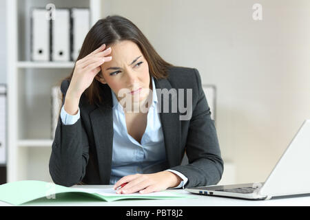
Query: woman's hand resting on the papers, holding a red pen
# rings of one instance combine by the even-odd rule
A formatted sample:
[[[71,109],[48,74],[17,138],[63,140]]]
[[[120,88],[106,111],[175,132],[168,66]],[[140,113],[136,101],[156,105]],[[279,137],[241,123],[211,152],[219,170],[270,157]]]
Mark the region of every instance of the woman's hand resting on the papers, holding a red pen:
[[[114,184],[114,190],[127,183],[122,188],[116,190],[116,193],[129,194],[140,192],[145,194],[165,190],[169,187],[176,187],[181,181],[182,179],[178,175],[167,170],[151,174],[127,175]]]

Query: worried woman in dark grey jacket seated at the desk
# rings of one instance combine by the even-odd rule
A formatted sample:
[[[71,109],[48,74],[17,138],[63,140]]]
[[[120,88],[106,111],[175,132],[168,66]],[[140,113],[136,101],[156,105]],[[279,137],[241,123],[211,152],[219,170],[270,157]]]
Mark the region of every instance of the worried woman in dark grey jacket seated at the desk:
[[[198,71],[163,61],[131,21],[99,20],[61,91],[50,157],[56,184],[149,193],[220,181],[223,160]],[[190,113],[174,111],[184,101]],[[180,165],[185,150],[189,164]]]

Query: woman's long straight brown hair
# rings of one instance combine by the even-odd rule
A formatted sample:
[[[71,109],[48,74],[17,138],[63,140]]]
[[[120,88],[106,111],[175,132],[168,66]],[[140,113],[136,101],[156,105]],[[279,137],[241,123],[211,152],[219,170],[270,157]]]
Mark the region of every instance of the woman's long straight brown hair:
[[[167,63],[161,58],[147,40],[144,34],[134,23],[121,16],[108,16],[105,19],[97,21],[85,36],[81,51],[77,61],[84,58],[101,45],[112,45],[118,41],[132,41],[138,45],[143,56],[149,65],[149,74],[156,79],[167,78],[167,68],[173,65]],[[70,76],[65,78],[71,80],[74,69]],[[102,74],[101,71],[99,74]],[[100,82],[93,80],[90,87],[85,90],[85,96],[90,104],[98,104],[102,102],[100,94]],[[63,99],[63,98],[62,98]]]

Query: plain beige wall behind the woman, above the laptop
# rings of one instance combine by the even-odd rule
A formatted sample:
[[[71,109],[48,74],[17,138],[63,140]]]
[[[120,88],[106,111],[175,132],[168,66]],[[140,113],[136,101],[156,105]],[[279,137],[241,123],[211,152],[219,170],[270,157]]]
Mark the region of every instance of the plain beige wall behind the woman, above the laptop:
[[[265,181],[310,118],[310,1],[103,0],[102,14],[127,17],[165,60],[216,85],[223,157],[237,182]]]

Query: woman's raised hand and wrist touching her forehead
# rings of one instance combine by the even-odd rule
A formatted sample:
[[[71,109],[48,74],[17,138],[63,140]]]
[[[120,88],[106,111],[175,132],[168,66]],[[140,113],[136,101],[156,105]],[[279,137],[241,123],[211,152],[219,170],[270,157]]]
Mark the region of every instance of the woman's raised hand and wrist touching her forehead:
[[[92,84],[94,77],[100,72],[101,65],[111,61],[111,47],[105,50],[105,44],[88,54],[79,61],[76,61],[72,79],[65,95],[65,111],[70,115],[75,115],[79,110],[79,100],[81,95]]]

